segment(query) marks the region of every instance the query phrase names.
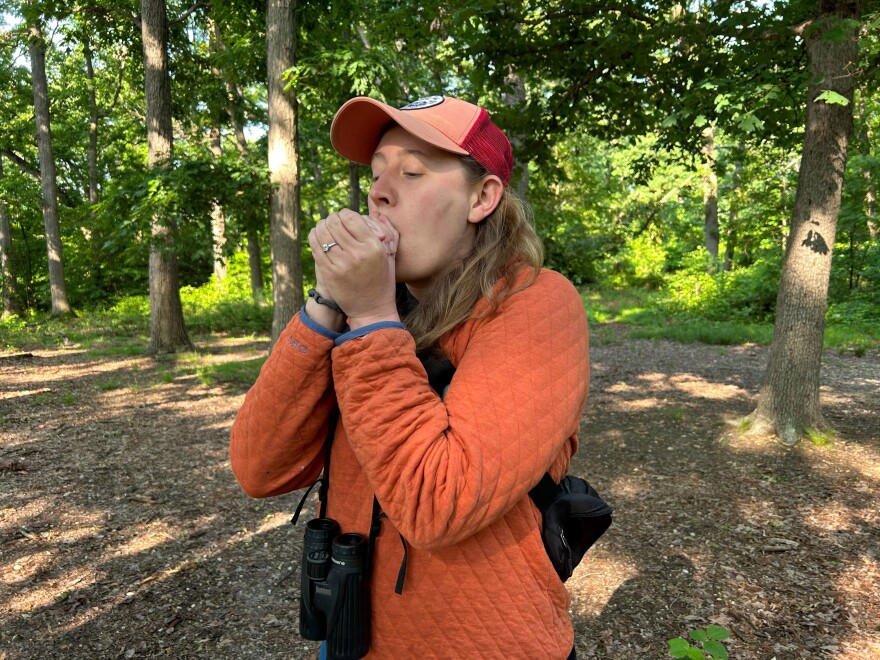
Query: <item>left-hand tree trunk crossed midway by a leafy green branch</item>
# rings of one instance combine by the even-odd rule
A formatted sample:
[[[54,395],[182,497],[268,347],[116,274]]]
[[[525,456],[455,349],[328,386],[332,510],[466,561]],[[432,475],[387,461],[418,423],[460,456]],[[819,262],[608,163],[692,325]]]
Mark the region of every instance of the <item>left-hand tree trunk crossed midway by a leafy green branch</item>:
[[[147,102],[147,160],[152,168],[171,160],[171,81],[168,77],[168,17],[165,0],[141,0],[144,46],[144,90]],[[158,214],[150,242],[150,352],[192,349],[180,302],[175,224]]]

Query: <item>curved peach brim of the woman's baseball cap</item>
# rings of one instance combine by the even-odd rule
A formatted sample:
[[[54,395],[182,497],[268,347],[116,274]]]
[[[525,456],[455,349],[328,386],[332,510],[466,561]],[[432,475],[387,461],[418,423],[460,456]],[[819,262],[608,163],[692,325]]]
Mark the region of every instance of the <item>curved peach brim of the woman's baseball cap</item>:
[[[341,156],[369,165],[382,134],[392,123],[444,151],[461,156],[468,153],[412,111],[398,110],[366,96],[351,99],[339,108],[330,126],[330,143]]]

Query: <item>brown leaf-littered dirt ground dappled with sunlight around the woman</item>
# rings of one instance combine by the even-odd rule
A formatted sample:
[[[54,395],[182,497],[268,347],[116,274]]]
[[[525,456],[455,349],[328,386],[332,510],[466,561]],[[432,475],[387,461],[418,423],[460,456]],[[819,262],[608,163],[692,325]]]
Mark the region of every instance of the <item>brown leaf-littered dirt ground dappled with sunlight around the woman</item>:
[[[299,496],[241,493],[227,442],[246,388],[180,368],[266,342],[198,344],[177,363],[0,354],[3,660],[315,656],[296,632]],[[710,623],[732,658],[880,657],[880,355],[825,355],[840,437],[792,449],[737,433],[765,363],[594,346],[572,472],[615,518],[568,582],[579,658],[663,658]]]

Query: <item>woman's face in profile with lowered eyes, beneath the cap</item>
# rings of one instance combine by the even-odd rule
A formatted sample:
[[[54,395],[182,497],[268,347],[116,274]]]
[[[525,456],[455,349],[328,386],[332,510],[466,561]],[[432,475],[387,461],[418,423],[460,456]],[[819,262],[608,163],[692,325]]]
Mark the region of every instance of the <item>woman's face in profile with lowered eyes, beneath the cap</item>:
[[[452,262],[470,252],[480,184],[468,182],[459,158],[410,135],[389,129],[373,154],[370,214],[383,214],[400,233],[395,258],[398,282],[416,298]]]

